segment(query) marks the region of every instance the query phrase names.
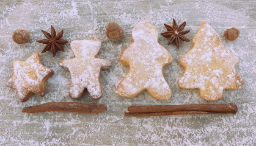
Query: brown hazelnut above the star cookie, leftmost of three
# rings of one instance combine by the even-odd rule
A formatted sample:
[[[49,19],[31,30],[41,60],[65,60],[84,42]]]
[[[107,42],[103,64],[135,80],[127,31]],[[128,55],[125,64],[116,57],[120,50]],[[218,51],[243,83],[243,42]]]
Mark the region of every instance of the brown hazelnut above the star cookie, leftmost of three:
[[[16,29],[12,33],[12,40],[17,44],[27,43],[30,39],[30,34],[26,30]]]

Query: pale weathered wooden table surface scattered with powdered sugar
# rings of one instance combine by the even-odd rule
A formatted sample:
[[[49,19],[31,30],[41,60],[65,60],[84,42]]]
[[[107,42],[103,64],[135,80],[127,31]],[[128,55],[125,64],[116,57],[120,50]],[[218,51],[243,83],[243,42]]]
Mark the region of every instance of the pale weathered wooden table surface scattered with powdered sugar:
[[[182,42],[180,49],[167,46],[167,39],[159,35],[159,43],[172,55],[172,63],[163,69],[173,95],[167,101],[155,100],[148,92],[128,99],[115,94],[119,81],[128,72],[120,64],[120,52],[132,43],[131,31],[137,23],[151,23],[159,33],[164,23],[186,21],[186,36],[192,40],[200,23],[207,21],[222,38],[225,29],[241,30],[235,41],[223,39],[224,46],[240,62],[236,71],[244,80],[243,88],[224,91],[217,102],[200,99],[197,90],[180,89],[178,79],[184,69],[178,60],[191,49],[191,42]],[[105,27],[109,22],[123,26],[120,40],[109,40]],[[256,1],[166,0],[166,1],[84,1],[84,0],[2,0],[0,1],[0,145],[256,145]],[[45,97],[32,96],[21,103],[15,89],[5,86],[12,76],[13,60],[26,60],[34,52],[41,52],[42,30],[56,32],[64,29],[69,42],[82,39],[101,39],[98,58],[112,61],[111,69],[101,71],[103,97],[90,99],[86,92],[79,100],[68,96],[70,72],[60,68],[59,61],[73,57],[70,43],[65,52],[42,55],[43,64],[55,74],[46,82]],[[15,44],[12,32],[26,29],[31,40]],[[81,113],[21,113],[25,106],[46,102],[97,102],[108,106],[101,114]],[[183,115],[162,117],[124,117],[130,105],[177,105],[194,103],[235,103],[236,115]]]

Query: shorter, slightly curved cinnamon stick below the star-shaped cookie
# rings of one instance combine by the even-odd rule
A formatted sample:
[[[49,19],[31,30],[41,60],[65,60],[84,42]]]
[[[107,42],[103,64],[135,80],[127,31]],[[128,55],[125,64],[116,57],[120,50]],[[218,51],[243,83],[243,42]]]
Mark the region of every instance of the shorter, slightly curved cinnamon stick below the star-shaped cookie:
[[[100,103],[48,102],[42,105],[29,106],[22,109],[23,113],[39,113],[44,111],[102,113],[107,111],[107,106]]]

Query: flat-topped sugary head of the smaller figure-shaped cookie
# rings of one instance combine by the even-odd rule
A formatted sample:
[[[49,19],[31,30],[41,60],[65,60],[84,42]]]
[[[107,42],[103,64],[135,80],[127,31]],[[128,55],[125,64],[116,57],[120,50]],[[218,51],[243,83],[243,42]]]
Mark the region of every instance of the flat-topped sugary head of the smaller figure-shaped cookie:
[[[101,41],[100,40],[75,40],[70,43],[71,49],[73,50],[76,57],[95,57],[100,51]]]

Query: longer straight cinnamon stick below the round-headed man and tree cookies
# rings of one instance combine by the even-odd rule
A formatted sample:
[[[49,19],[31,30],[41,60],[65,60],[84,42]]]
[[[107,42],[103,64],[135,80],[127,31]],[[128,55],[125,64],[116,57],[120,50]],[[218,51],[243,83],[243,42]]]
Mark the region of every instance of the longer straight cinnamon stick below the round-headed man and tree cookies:
[[[235,104],[196,104],[196,105],[149,105],[129,106],[125,116],[166,116],[178,114],[236,114]]]

